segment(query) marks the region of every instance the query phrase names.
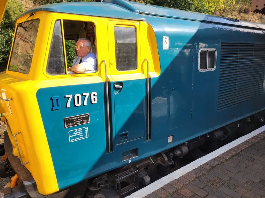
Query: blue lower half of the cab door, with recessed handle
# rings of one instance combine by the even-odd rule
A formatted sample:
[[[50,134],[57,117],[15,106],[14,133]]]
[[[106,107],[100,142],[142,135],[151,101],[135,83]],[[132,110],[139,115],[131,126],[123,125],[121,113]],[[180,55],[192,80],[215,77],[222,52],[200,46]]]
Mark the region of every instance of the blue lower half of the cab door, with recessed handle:
[[[122,88],[114,88],[113,94],[116,144],[144,137],[146,131],[145,82],[145,79],[114,82],[114,85],[122,86]]]

